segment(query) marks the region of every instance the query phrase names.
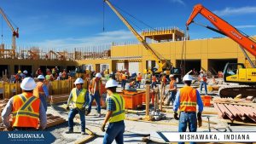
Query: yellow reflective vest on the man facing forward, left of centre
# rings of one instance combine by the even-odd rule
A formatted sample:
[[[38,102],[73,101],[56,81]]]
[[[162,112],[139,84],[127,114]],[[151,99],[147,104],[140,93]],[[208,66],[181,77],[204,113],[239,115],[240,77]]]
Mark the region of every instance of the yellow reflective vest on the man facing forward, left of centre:
[[[79,96],[77,95],[76,88],[72,89],[72,101],[74,103],[74,107],[82,108],[84,105],[84,96],[86,94],[86,89],[82,89]]]

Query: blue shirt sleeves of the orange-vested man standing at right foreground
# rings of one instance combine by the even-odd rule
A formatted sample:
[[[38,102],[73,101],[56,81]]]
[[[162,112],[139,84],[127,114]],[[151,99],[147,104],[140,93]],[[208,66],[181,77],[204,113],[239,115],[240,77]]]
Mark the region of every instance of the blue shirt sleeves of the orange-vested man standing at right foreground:
[[[203,111],[203,103],[201,101],[201,95],[199,94],[198,90],[196,91],[196,103],[198,105],[198,112],[202,112]],[[177,109],[180,106],[180,90],[178,90],[177,94],[176,94],[176,99],[174,101],[174,105],[173,105],[173,111],[177,112]]]

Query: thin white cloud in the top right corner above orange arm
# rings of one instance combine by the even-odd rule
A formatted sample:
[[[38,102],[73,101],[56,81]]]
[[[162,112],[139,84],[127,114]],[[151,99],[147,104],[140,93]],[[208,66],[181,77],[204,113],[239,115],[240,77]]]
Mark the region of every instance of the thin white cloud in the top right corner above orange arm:
[[[256,7],[225,8],[223,10],[215,10],[213,13],[221,16],[234,14],[254,14],[256,13]]]

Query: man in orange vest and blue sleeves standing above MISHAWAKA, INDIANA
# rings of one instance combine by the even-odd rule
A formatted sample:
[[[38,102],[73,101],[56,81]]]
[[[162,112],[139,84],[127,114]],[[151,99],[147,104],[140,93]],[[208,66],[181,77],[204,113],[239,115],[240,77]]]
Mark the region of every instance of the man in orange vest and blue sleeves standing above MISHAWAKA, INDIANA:
[[[201,101],[201,95],[199,92],[190,86],[192,80],[193,78],[190,75],[185,75],[183,77],[183,83],[185,85],[182,89],[179,89],[174,101],[174,118],[176,120],[179,119],[178,132],[185,132],[187,130],[187,124],[189,126],[189,132],[196,132],[196,104],[198,105],[197,119],[199,126],[201,126],[201,112],[203,111],[203,103]],[[179,118],[177,116],[177,109],[180,111]]]

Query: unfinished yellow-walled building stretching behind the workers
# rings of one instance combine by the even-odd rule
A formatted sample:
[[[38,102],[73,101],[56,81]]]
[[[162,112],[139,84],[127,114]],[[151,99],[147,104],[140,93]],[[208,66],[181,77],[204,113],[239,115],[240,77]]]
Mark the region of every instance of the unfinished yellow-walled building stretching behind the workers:
[[[185,72],[204,69],[213,75],[223,71],[227,62],[246,63],[239,45],[229,37],[216,37],[185,40],[184,32],[177,27],[158,28],[142,32],[144,40],[154,51],[169,60],[175,67],[184,67]],[[35,72],[41,69],[60,66],[61,69],[82,69],[102,72],[109,69],[143,72],[144,69],[157,67],[153,55],[140,43],[112,43],[112,45],[77,48],[69,51],[41,48],[17,48],[15,59],[1,51],[1,75],[18,70]],[[255,62],[255,57],[249,55]],[[46,65],[47,64],[47,65]]]

